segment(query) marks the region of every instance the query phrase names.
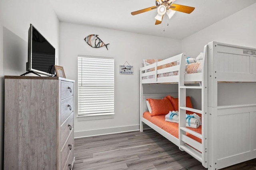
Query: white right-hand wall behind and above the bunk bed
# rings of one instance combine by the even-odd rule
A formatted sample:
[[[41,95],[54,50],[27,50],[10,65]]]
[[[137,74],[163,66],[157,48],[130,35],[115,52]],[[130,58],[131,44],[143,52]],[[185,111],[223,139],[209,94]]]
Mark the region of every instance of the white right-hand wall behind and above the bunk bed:
[[[196,58],[200,52],[203,52],[204,45],[211,41],[217,41],[221,43],[229,43],[247,47],[256,48],[256,3],[248,6],[247,8],[236,12],[235,14],[224,18],[221,21],[190,35],[182,39],[182,52],[186,52],[187,56]],[[221,88],[219,88],[218,92],[218,105],[226,105],[230,104],[228,101],[223,100],[226,94],[230,94],[232,92],[228,91],[226,88],[226,84],[219,84]],[[235,84],[229,85],[232,86],[232,90],[235,89]],[[246,88],[248,86],[252,86],[250,84],[240,84],[240,88]],[[224,90],[225,89],[225,90]],[[236,90],[234,90],[236,91]],[[239,95],[236,94],[236,99],[239,99]],[[232,97],[235,97],[234,95]],[[193,96],[192,102],[193,107],[200,109],[200,101],[201,96],[200,93],[195,90],[190,90],[187,95]],[[255,96],[254,96],[255,98]],[[244,100],[245,102],[245,100]],[[239,100],[236,103],[244,103]],[[250,102],[248,102],[250,103]]]

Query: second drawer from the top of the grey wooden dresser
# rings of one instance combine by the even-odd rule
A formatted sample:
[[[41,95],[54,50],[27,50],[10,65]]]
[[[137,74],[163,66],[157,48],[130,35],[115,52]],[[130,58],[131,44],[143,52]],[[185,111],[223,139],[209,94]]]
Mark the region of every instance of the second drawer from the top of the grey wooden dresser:
[[[73,112],[73,96],[63,99],[61,102],[61,124],[68,118],[70,113]]]

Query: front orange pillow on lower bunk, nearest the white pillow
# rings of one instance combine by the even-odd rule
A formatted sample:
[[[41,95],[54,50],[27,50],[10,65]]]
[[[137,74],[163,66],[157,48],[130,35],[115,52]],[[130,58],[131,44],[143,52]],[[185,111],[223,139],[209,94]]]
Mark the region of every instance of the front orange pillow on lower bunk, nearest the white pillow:
[[[166,97],[163,99],[147,99],[151,107],[151,116],[167,115],[169,111],[173,111],[174,108],[170,100]]]

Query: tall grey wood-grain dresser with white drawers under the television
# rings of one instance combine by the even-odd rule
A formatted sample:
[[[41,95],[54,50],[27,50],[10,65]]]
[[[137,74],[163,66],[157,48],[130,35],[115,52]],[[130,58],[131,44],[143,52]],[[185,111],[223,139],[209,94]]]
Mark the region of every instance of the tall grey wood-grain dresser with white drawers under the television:
[[[4,169],[71,170],[74,81],[5,76]]]

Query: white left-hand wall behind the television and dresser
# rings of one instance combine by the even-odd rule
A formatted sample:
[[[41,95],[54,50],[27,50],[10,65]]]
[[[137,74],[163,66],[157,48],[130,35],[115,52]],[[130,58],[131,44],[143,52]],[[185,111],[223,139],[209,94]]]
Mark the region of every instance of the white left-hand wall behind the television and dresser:
[[[52,43],[58,56],[59,20],[50,2],[0,0],[0,169],[3,165],[4,75],[19,76],[26,72],[30,23]]]

